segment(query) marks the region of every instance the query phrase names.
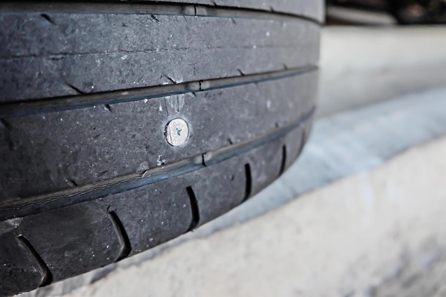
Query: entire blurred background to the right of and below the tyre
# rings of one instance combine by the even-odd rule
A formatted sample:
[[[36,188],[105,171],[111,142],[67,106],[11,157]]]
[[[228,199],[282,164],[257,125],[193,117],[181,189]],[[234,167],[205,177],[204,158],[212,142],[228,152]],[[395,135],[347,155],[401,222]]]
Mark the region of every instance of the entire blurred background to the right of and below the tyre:
[[[26,296],[446,296],[446,1],[327,0],[317,119],[273,185]]]

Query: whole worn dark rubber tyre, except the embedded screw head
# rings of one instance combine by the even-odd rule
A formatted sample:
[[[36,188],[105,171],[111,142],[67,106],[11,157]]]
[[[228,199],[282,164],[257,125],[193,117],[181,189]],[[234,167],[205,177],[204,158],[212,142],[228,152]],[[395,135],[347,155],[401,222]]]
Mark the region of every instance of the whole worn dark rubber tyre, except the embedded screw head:
[[[322,4],[221,2],[0,4],[0,295],[180,236],[297,158]]]

